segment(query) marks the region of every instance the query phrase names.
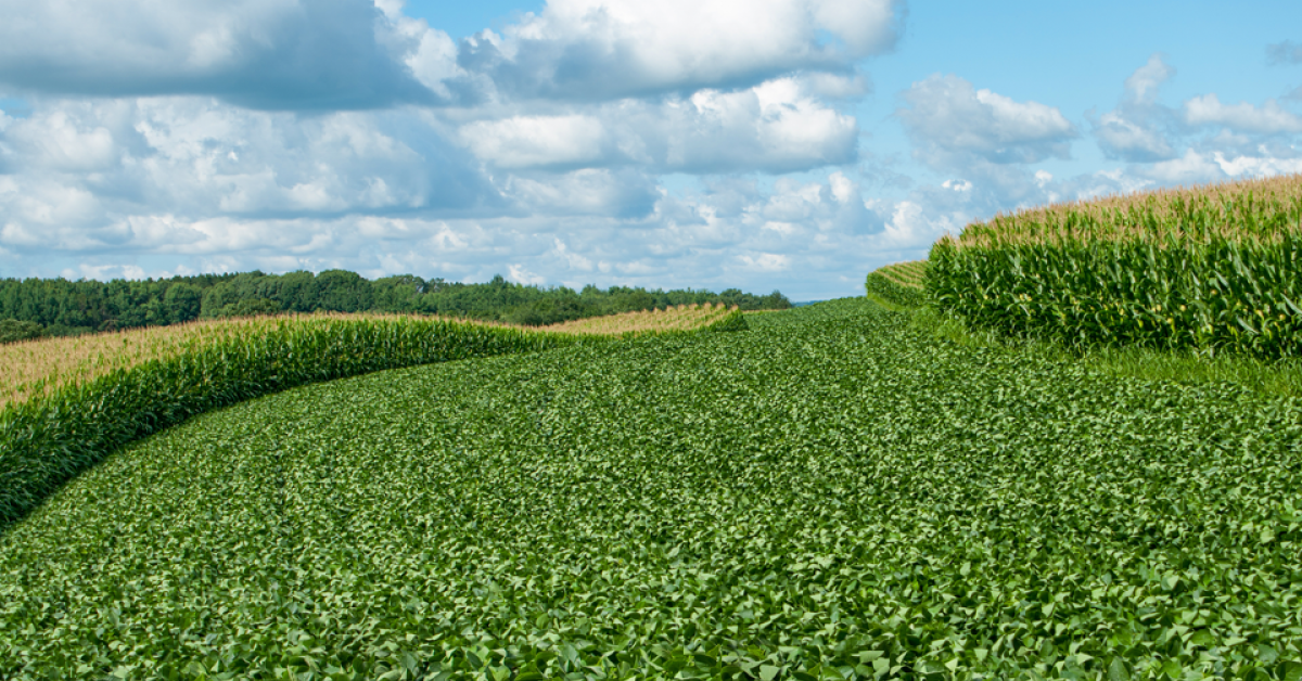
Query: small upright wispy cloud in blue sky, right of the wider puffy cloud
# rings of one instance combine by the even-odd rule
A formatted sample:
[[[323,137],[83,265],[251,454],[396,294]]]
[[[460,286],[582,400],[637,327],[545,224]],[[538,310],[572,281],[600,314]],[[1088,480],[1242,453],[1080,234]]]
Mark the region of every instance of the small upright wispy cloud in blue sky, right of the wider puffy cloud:
[[[1169,139],[1173,115],[1157,103],[1157,91],[1176,76],[1161,55],[1152,55],[1125,81],[1125,95],[1116,109],[1091,120],[1099,148],[1109,159],[1154,163],[1173,159]]]

